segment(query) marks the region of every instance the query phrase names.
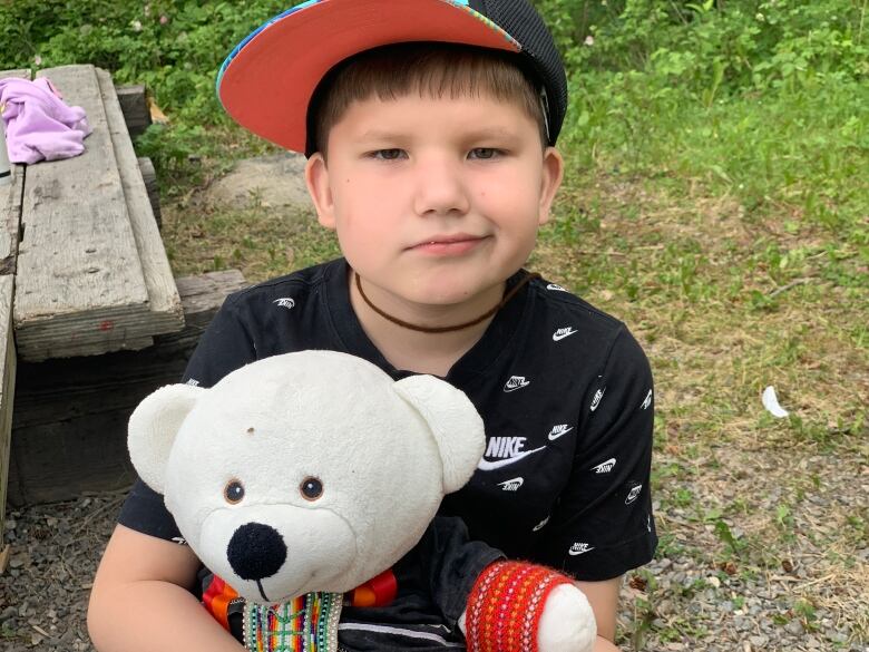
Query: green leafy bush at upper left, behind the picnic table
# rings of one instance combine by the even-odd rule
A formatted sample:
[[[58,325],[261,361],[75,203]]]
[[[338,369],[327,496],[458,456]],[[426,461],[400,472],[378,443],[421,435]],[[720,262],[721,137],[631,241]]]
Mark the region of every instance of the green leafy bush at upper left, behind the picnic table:
[[[285,2],[0,2],[0,69],[94,64],[116,82],[146,84],[173,118],[224,120],[214,94],[230,49]]]

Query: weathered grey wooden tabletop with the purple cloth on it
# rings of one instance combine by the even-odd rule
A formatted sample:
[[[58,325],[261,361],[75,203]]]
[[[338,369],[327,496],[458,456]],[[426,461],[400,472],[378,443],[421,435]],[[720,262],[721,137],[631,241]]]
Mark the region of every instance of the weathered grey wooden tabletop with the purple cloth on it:
[[[110,75],[64,66],[37,77],[81,106],[94,130],[80,156],[13,165],[0,185],[0,535],[18,361],[141,350],[185,327]]]

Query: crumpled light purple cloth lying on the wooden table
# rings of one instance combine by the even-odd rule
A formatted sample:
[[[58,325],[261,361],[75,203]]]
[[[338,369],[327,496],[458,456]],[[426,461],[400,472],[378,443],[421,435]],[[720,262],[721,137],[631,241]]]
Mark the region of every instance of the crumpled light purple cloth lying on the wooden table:
[[[85,109],[68,106],[46,77],[0,79],[0,107],[12,163],[78,156],[91,128]]]

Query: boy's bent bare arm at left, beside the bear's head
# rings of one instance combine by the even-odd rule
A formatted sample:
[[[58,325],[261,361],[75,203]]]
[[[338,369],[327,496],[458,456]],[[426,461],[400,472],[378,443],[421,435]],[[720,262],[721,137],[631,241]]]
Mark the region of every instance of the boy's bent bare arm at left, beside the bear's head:
[[[94,646],[99,652],[241,652],[189,592],[198,567],[187,546],[116,526],[90,593]]]

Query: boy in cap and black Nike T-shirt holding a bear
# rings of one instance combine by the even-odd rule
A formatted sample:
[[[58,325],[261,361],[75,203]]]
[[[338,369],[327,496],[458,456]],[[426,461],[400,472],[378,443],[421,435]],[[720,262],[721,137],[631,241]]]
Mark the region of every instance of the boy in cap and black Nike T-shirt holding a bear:
[[[656,545],[652,377],[624,324],[521,270],[563,175],[566,80],[539,16],[526,0],[305,2],[235,49],[218,94],[307,155],[344,257],[227,299],[186,381],[301,349],[446,378],[488,445],[442,513],[576,577],[596,650],[615,650],[622,575]],[[188,592],[198,562],[169,543],[162,497],[137,485],[119,520],[88,615],[98,649],[237,652]]]

